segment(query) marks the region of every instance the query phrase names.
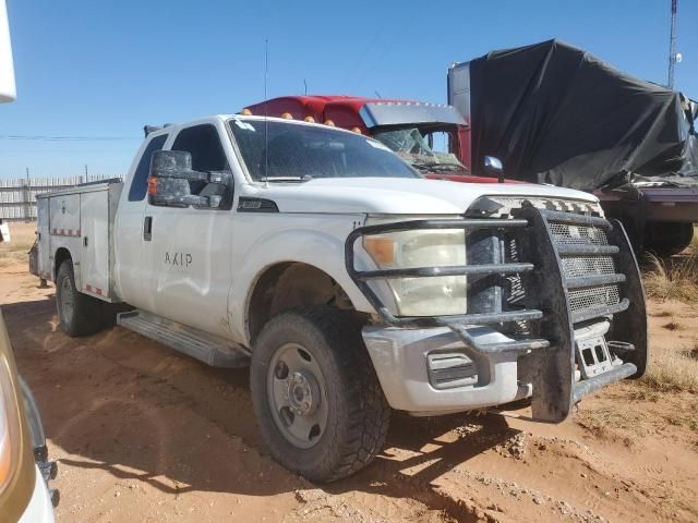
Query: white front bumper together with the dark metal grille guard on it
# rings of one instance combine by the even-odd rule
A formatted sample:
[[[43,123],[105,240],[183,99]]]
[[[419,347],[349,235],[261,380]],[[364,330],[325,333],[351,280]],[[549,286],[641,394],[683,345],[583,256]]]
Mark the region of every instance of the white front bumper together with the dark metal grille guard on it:
[[[467,266],[447,268],[354,269],[354,243],[363,235],[455,228],[478,231],[481,245],[494,245],[486,259],[478,255]],[[571,235],[561,235],[561,228],[573,231]],[[503,254],[503,245],[512,241],[516,241],[516,260]],[[514,211],[513,219],[369,226],[348,238],[346,258],[349,275],[384,323],[364,328],[363,338],[395,409],[447,413],[530,396],[533,418],[559,422],[587,393],[645,373],[645,293],[630,244],[617,221],[524,207]],[[614,267],[610,273],[599,269],[601,258]],[[443,275],[468,275],[492,285],[474,285],[480,295],[469,295],[469,311],[459,316],[396,317],[370,284],[382,278]],[[526,290],[515,306],[502,300],[504,280],[512,276]],[[512,328],[521,323],[527,325],[522,331]],[[453,365],[444,366],[445,360]],[[455,379],[446,380],[444,387],[440,375]]]

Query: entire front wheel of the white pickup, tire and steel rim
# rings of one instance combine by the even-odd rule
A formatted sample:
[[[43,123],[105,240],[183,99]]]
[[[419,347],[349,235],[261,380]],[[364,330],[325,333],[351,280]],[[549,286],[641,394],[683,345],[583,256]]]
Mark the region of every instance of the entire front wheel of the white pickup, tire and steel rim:
[[[315,306],[272,318],[252,352],[250,385],[273,458],[310,481],[349,476],[383,450],[390,410],[349,312]]]

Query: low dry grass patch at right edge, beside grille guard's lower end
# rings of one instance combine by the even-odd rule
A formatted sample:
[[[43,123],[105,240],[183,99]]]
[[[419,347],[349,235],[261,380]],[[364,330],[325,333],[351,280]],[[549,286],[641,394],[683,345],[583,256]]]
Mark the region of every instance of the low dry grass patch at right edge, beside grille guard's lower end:
[[[698,346],[689,350],[654,346],[642,381],[662,391],[698,392]]]

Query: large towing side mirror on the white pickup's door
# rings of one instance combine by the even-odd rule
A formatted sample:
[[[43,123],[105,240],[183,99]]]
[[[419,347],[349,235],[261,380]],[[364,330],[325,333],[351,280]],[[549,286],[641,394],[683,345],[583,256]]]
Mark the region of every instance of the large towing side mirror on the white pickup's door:
[[[153,205],[217,208],[221,196],[191,194],[189,182],[227,184],[225,173],[192,169],[192,155],[185,150],[156,150],[151,158],[148,198]]]

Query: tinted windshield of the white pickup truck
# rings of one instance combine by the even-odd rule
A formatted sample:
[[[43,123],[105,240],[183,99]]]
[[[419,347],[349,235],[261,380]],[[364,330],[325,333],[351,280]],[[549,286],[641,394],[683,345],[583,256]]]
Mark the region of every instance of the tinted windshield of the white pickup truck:
[[[360,134],[272,120],[266,131],[263,120],[233,119],[228,124],[255,181],[419,178],[389,148]]]

